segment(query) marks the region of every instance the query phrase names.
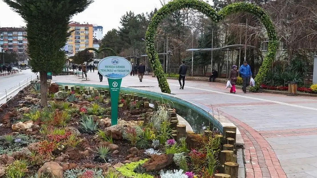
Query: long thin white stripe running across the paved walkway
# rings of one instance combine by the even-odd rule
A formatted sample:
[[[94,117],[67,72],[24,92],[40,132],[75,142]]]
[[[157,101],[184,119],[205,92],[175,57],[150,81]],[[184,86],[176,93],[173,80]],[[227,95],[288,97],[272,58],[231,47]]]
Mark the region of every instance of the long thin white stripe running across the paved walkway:
[[[146,79],[148,80],[148,79]],[[149,81],[154,81],[154,80],[149,80]],[[176,85],[177,84],[173,84],[173,83],[169,83],[170,85]],[[230,96],[236,96],[236,97],[241,97],[241,98],[247,98],[247,99],[251,99],[251,100],[258,100],[258,101],[266,101],[266,102],[273,102],[276,104],[281,104],[281,105],[285,105],[285,106],[292,106],[292,107],[298,107],[298,108],[302,108],[302,109],[310,109],[310,110],[314,110],[317,111],[317,108],[315,107],[306,107],[306,106],[301,106],[301,105],[297,105],[297,104],[290,104],[290,103],[285,103],[285,102],[281,102],[281,101],[274,101],[274,100],[268,100],[268,99],[263,99],[263,98],[255,98],[255,97],[251,97],[251,96],[244,96],[244,95],[233,95],[231,93],[224,93],[221,91],[215,91],[215,90],[210,90],[210,89],[200,89],[200,88],[195,88],[195,87],[185,87],[185,88],[190,88],[190,89],[198,89],[198,90],[203,90],[203,91],[209,91],[212,93],[218,93],[218,94],[223,94],[223,95],[230,95]]]

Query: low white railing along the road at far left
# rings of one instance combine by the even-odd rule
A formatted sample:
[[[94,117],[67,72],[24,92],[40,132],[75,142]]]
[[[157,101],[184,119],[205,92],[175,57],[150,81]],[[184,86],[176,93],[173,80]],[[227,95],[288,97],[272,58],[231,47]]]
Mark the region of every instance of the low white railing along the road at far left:
[[[9,89],[5,89],[4,91],[0,92],[0,106],[2,106],[7,101],[10,101],[13,96],[15,96],[20,90],[24,89],[26,86],[30,84],[32,79],[35,79],[36,75],[31,75],[26,79],[18,82],[16,85]]]

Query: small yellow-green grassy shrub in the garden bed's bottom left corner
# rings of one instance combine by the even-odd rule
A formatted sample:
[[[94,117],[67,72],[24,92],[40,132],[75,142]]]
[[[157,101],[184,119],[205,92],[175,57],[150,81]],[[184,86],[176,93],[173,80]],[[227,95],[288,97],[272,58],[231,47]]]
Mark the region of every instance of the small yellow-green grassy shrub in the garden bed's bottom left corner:
[[[25,160],[16,160],[6,170],[7,178],[22,178],[28,171],[28,164]]]

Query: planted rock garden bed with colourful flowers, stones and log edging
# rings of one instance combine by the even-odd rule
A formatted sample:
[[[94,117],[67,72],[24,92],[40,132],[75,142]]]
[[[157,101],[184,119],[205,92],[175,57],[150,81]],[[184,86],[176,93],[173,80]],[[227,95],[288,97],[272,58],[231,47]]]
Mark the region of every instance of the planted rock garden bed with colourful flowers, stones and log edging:
[[[235,127],[186,132],[175,109],[131,94],[111,126],[107,90],[52,83],[47,107],[40,95],[35,82],[0,107],[0,177],[237,177]]]

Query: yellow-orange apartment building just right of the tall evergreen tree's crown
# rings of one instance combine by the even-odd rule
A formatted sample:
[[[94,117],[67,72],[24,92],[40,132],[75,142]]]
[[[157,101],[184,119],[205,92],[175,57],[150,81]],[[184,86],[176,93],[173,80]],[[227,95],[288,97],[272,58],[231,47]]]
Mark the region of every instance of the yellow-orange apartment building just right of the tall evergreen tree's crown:
[[[70,30],[74,30],[68,37],[68,54],[74,55],[76,52],[86,48],[94,47],[93,25],[73,22],[69,24]]]

